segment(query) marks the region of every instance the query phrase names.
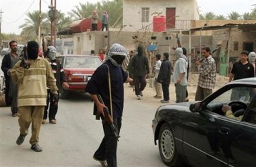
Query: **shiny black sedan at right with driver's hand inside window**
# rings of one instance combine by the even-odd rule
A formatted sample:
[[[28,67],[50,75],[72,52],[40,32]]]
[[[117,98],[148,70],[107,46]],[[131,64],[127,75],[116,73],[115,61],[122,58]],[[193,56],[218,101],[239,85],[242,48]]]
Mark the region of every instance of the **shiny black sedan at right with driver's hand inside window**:
[[[167,166],[256,166],[256,78],[234,80],[203,101],[160,106],[154,142]],[[225,116],[223,105],[232,113]]]

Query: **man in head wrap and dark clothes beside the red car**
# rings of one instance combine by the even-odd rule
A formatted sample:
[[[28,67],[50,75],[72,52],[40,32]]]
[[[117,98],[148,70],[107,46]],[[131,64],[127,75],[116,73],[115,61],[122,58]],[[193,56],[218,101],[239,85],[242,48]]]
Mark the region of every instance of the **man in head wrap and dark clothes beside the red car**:
[[[51,64],[51,68],[53,69],[53,74],[56,79],[56,85],[59,90],[69,88],[67,80],[65,78],[65,73],[63,67],[56,60],[56,48],[54,46],[48,46],[46,50],[45,58],[49,60]],[[47,119],[47,110],[49,108],[49,122],[52,124],[57,123],[55,118],[58,111],[58,101],[53,101],[53,93],[51,93],[50,89],[47,89],[47,100],[46,107],[44,107],[44,118],[42,119],[42,124],[46,123]],[[50,106],[50,107],[49,107]]]

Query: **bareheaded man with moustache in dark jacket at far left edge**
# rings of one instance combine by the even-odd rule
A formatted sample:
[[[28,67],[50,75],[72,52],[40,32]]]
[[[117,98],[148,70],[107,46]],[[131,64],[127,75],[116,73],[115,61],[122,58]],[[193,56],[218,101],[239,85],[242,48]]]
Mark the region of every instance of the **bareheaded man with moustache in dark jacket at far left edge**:
[[[9,47],[11,52],[3,57],[1,69],[5,75],[5,103],[6,105],[11,105],[11,114],[13,117],[17,115],[17,85],[11,80],[10,71],[14,64],[20,60],[18,55],[18,44],[16,41],[12,40],[9,42]]]

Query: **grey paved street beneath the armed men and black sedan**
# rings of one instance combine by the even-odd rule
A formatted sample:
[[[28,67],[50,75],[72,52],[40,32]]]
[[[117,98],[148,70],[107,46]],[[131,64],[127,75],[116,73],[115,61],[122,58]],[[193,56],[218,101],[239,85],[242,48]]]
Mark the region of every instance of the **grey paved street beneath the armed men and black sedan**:
[[[154,146],[151,121],[159,99],[146,88],[143,99],[137,101],[125,85],[125,111],[118,146],[119,166],[165,166]],[[18,117],[11,117],[9,107],[0,107],[0,166],[100,166],[92,159],[103,137],[100,121],[92,115],[93,103],[88,95],[73,94],[60,100],[57,124],[42,125],[42,152],[30,150],[29,135],[22,146],[15,140],[19,135]]]

